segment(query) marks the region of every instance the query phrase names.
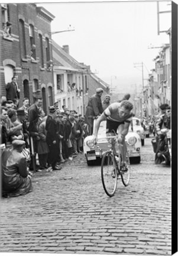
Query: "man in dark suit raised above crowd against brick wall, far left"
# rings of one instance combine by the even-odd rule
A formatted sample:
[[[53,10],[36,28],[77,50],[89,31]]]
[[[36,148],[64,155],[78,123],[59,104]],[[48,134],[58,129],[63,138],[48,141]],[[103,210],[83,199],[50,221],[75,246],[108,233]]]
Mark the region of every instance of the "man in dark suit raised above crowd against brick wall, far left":
[[[7,91],[7,100],[12,100],[15,105],[18,105],[20,89],[18,89],[15,76],[12,77],[12,81],[6,85],[5,89]]]

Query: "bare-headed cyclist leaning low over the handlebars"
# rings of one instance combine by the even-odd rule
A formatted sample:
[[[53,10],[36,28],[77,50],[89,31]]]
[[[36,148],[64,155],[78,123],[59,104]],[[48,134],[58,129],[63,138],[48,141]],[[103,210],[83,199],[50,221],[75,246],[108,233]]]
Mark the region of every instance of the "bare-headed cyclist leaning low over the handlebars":
[[[98,117],[95,123],[95,130],[93,134],[93,143],[97,142],[97,135],[99,130],[99,125],[103,120],[106,120],[106,134],[116,133],[118,130],[118,143],[121,143],[121,155],[122,155],[122,164],[121,170],[127,171],[126,167],[126,152],[127,147],[125,145],[125,136],[128,133],[130,123],[132,121],[132,108],[133,105],[130,101],[124,100],[121,103],[112,103],[106,108],[101,116]]]

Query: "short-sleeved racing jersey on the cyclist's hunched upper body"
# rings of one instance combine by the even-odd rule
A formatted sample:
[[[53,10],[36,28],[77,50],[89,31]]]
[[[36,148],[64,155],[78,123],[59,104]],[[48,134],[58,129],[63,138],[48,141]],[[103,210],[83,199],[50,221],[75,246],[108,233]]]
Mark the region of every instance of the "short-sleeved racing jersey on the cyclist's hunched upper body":
[[[118,108],[121,106],[121,103],[112,103],[103,111],[107,120],[118,122],[118,123],[131,123],[132,120],[132,112],[127,116],[119,117]]]

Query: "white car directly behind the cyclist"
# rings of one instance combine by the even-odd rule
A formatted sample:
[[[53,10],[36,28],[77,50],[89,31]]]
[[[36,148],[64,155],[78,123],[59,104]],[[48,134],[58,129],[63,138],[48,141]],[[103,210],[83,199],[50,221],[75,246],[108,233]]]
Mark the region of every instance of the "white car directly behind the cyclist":
[[[95,122],[93,124],[93,129],[95,129]],[[94,165],[97,162],[101,162],[102,155],[108,151],[109,143],[106,139],[106,121],[102,121],[98,130],[98,142],[95,145],[92,142],[93,135],[85,137],[83,141],[83,154],[86,157],[86,162],[88,165]],[[141,139],[138,133],[135,133],[129,129],[127,136],[125,136],[125,142],[127,145],[128,154],[130,156],[130,161],[134,163],[140,163],[141,160]]]

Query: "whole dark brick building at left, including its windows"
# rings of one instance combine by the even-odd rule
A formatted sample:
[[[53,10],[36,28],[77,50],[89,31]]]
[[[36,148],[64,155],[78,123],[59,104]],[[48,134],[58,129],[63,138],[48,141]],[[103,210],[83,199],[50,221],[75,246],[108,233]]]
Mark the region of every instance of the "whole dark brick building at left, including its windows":
[[[54,16],[35,4],[1,4],[1,96],[17,75],[20,106],[24,97],[33,104],[43,97],[43,108],[54,101],[51,21]]]

